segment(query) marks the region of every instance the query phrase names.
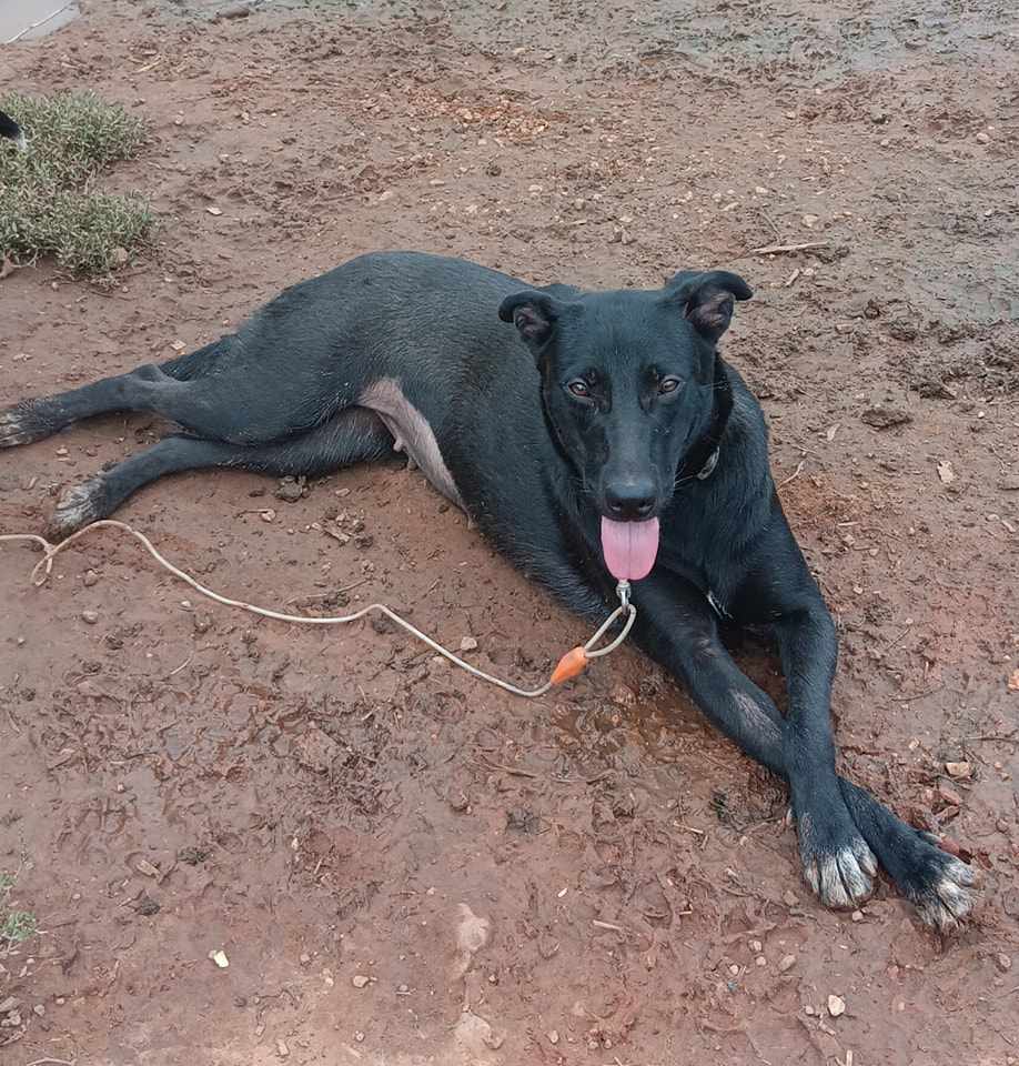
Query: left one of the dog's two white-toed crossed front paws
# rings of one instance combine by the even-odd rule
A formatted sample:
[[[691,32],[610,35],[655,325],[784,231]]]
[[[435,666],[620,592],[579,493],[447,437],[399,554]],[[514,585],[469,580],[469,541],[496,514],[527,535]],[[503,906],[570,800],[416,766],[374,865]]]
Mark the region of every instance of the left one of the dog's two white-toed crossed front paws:
[[[834,911],[858,907],[874,892],[877,859],[849,812],[814,807],[797,815],[804,878]]]

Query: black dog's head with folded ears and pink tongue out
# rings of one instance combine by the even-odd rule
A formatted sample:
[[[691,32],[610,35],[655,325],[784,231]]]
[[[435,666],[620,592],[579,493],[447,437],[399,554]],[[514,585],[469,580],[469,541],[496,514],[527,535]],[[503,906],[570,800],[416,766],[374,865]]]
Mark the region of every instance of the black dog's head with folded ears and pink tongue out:
[[[534,354],[552,431],[602,515],[617,577],[654,563],[657,517],[712,423],[715,346],[734,301],[750,295],[727,271],[684,271],[658,291],[531,290],[500,306]]]

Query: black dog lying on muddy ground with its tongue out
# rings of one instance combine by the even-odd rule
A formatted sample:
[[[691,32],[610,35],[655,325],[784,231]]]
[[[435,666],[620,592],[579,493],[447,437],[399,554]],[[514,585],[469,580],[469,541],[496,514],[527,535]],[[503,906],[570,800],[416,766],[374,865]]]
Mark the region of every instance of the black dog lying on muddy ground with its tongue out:
[[[779,505],[760,408],[716,351],[749,296],[724,271],[657,291],[522,291],[457,260],[365,255],[199,351],[9,409],[0,446],[111,411],[186,430],[67,493],[58,533],[174,471],[317,475],[406,451],[575,611],[601,620],[616,579],[636,582],[639,645],[788,782],[825,904],[861,903],[880,863],[949,928],[971,906],[970,868],[836,774],[835,627]],[[775,634],[785,717],[729,657],[720,613]]]

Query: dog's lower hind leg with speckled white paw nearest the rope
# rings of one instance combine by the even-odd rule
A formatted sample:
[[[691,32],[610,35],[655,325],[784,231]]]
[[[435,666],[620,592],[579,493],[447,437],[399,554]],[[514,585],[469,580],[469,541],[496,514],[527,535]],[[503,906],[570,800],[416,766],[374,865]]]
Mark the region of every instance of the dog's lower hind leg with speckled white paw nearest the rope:
[[[95,474],[61,497],[49,525],[63,537],[112,514],[132,493],[164,474],[233,466],[266,474],[325,474],[353,463],[382,459],[393,435],[364,408],[347,408],[301,436],[272,444],[230,444],[194,436],[167,436],[152,447]]]

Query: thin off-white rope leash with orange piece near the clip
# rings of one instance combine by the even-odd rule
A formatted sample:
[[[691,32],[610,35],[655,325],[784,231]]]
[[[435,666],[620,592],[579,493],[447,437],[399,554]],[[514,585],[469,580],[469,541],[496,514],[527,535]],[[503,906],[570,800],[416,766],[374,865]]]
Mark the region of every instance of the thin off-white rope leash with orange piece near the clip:
[[[437,641],[433,641],[432,637],[422,633],[416,626],[411,625],[410,622],[407,622],[405,619],[402,619],[398,614],[396,614],[395,611],[392,611],[384,603],[370,603],[366,607],[362,607],[360,611],[355,611],[353,614],[319,619],[310,615],[283,614],[280,611],[272,611],[269,607],[260,607],[253,603],[245,603],[243,600],[231,600],[229,596],[222,596],[218,592],[213,592],[211,589],[206,589],[204,585],[199,584],[199,582],[195,581],[190,574],[184,573],[184,571],[180,570],[178,566],[174,566],[173,563],[171,563],[168,559],[164,559],[149,540],[149,537],[144,535],[144,533],[140,533],[130,525],[127,525],[123,522],[117,522],[113,519],[103,519],[102,521],[93,522],[91,525],[84,526],[84,529],[79,530],[77,533],[72,533],[59,544],[51,544],[46,537],[39,536],[36,533],[4,533],[0,534],[0,542],[31,541],[33,544],[39,544],[42,547],[44,554],[42,559],[40,559],[39,562],[32,567],[32,583],[38,587],[46,584],[47,579],[53,570],[53,560],[62,551],[70,547],[71,544],[84,536],[87,533],[91,533],[93,530],[103,527],[120,530],[122,533],[130,534],[137,541],[141,542],[145,551],[160,564],[160,566],[173,574],[174,577],[178,577],[180,581],[183,581],[185,584],[190,585],[200,595],[203,595],[209,600],[214,600],[216,603],[222,603],[228,607],[239,607],[241,611],[248,611],[251,614],[261,615],[263,619],[275,619],[278,622],[291,622],[296,625],[344,625],[349,622],[356,622],[359,619],[363,619],[365,615],[376,611],[380,614],[385,615],[385,617],[387,617],[391,622],[402,626],[407,633],[417,637],[417,640],[423,644],[427,644],[428,647],[447,658],[451,663],[460,666],[461,670],[465,670],[468,674],[473,674],[475,677],[480,677],[482,681],[487,681],[490,684],[498,685],[500,688],[504,688],[506,692],[512,692],[515,696],[524,696],[527,700],[534,700],[537,696],[543,696],[555,685],[562,684],[564,681],[568,681],[571,677],[575,677],[578,673],[581,673],[584,666],[587,665],[588,660],[599,658],[603,655],[608,655],[609,652],[614,652],[628,636],[634,624],[634,620],[637,616],[636,607],[634,607],[634,605],[629,602],[629,583],[625,581],[619,582],[619,585],[616,590],[619,596],[619,606],[616,607],[612,614],[609,614],[609,616],[602,623],[598,631],[586,644],[584,644],[582,647],[573,648],[563,656],[552,677],[545,682],[544,685],[538,688],[528,690],[519,688],[516,685],[511,684],[508,681],[503,681],[501,677],[486,674],[483,670],[472,666],[471,663],[465,662],[458,655],[454,655],[453,652],[446,647],[443,647]],[[41,575],[40,571],[42,571]],[[605,647],[596,648],[595,645],[602,640],[609,626],[612,626],[612,624],[624,614],[626,615],[626,622],[623,625],[622,632],[609,644],[606,644]]]

